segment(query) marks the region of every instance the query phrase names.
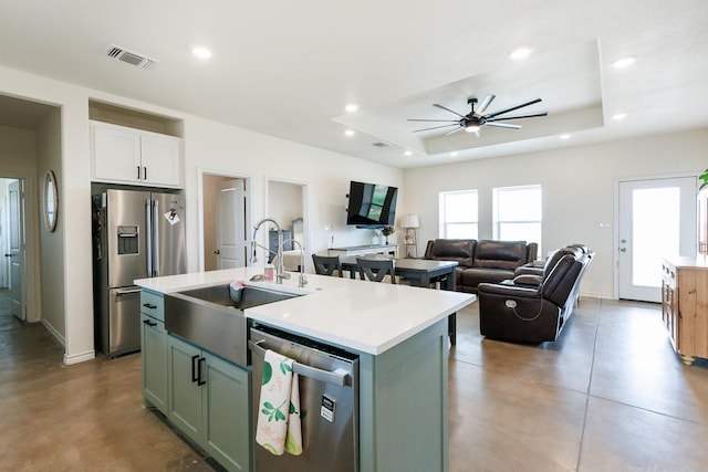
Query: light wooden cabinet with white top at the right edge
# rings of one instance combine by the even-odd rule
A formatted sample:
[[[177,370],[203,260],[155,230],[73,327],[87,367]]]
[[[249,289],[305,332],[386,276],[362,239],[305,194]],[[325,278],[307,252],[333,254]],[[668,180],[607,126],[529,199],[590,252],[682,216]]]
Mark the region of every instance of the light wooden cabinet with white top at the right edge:
[[[708,261],[665,259],[662,264],[662,319],[681,361],[708,358]]]

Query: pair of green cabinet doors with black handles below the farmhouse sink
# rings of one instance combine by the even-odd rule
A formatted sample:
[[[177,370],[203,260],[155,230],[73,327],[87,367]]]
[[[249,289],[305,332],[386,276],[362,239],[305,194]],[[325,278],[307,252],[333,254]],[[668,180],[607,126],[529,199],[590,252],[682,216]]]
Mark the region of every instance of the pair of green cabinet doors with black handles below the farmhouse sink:
[[[167,348],[167,419],[227,470],[250,470],[249,373],[176,336]]]

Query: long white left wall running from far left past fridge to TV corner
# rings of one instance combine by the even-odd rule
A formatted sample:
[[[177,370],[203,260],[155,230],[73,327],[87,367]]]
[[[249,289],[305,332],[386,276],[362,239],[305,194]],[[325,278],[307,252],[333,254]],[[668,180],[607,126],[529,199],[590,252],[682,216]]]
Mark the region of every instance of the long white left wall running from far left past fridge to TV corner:
[[[326,248],[335,224],[340,244],[368,241],[368,231],[344,225],[345,195],[350,179],[369,180],[400,187],[400,169],[356,159],[323,149],[273,138],[242,128],[185,115],[155,105],[91,91],[81,86],[0,67],[0,94],[61,106],[61,203],[60,231],[63,241],[65,355],[73,364],[94,357],[92,241],[91,241],[91,153],[88,101],[92,98],[142,109],[183,120],[185,197],[187,201],[188,269],[198,270],[198,170],[214,170],[250,177],[252,217],[263,217],[267,178],[308,183],[310,201],[310,249]],[[399,201],[404,201],[404,195]],[[405,208],[399,203],[399,211]],[[63,221],[62,221],[63,220]],[[58,235],[59,237],[59,235]],[[262,235],[263,244],[266,234]]]

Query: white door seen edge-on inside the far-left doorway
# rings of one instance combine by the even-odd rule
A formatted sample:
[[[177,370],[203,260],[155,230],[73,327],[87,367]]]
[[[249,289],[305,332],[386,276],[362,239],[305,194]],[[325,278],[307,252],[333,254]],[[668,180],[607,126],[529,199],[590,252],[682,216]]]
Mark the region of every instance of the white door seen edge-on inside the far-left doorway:
[[[22,260],[24,259],[24,231],[23,231],[23,196],[20,181],[15,180],[8,185],[8,211],[10,220],[10,286],[12,314],[20,319],[24,319],[22,310]]]

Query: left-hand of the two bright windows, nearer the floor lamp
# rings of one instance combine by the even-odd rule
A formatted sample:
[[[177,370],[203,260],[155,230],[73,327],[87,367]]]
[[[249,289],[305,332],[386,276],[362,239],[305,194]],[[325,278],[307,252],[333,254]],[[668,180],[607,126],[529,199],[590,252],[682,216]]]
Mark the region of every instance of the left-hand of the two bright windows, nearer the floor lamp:
[[[444,191],[440,200],[440,238],[477,239],[477,190]]]

